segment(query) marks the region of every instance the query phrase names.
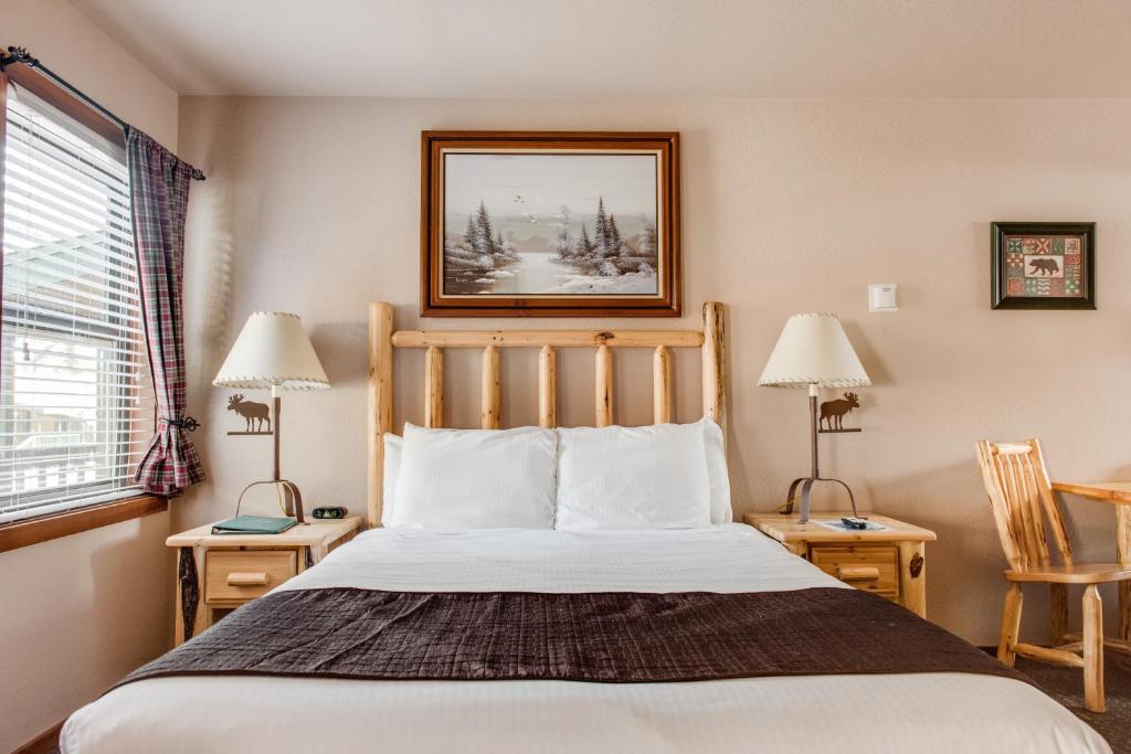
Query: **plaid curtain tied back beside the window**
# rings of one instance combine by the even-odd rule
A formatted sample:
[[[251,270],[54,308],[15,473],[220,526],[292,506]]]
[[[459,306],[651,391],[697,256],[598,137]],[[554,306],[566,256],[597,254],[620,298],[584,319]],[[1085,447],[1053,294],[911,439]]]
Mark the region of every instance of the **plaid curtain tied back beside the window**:
[[[184,406],[184,214],[197,171],[135,128],[126,128],[133,245],[159,422],[133,480],[146,492],[178,495],[204,480]]]

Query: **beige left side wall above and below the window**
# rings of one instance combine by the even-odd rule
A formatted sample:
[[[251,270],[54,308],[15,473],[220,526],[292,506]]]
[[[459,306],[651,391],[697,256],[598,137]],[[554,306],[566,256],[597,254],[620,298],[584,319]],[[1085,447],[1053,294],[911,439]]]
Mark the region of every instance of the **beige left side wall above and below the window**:
[[[176,94],[62,0],[0,2],[0,44],[52,70],[164,144]],[[167,513],[0,553],[0,751],[101,694],[170,640]]]

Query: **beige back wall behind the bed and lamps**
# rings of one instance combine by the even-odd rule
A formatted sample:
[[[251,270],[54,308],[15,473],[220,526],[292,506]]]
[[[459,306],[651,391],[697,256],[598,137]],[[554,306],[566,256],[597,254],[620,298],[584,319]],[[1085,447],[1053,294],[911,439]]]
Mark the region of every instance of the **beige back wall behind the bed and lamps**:
[[[736,510],[772,509],[808,467],[804,393],[757,387],[783,322],[839,313],[875,387],[860,391],[862,434],[822,439],[824,470],[867,506],[938,531],[930,614],[975,642],[995,639],[1004,562],[974,441],[1041,435],[1054,476],[1131,475],[1131,102],[190,97],[181,150],[209,175],[190,210],[190,407],[210,480],[176,526],[230,514],[241,486],[269,474],[269,441],[224,436],[228,391],[209,387],[257,309],[300,313],[334,382],[285,398],[286,476],[312,503],[363,508],[366,304],[392,302],[405,328],[470,324],[417,317],[418,139],[433,128],[679,130],[688,315],[674,324],[694,326],[708,298],[731,306]],[[1018,219],[1099,224],[1099,311],[990,310],[990,223]],[[900,311],[867,313],[869,283],[898,283]],[[399,416],[415,421],[421,361],[397,371]],[[476,417],[476,364],[449,362],[463,426]],[[586,422],[592,362],[570,353],[564,369],[566,421]],[[622,422],[647,421],[647,369],[645,354],[618,362],[618,399],[634,398]],[[535,421],[533,370],[533,353],[504,358],[504,379],[526,385],[508,424]],[[677,382],[691,418],[688,355]],[[1112,556],[1112,510],[1070,501],[1068,515],[1085,555]],[[1030,618],[1044,601],[1034,590]]]

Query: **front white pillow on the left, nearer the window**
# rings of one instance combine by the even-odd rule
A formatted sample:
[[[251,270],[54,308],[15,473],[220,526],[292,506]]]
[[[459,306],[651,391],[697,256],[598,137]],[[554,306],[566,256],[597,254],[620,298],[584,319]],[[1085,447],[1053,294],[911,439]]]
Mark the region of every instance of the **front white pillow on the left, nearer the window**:
[[[405,425],[390,527],[552,529],[552,430]]]

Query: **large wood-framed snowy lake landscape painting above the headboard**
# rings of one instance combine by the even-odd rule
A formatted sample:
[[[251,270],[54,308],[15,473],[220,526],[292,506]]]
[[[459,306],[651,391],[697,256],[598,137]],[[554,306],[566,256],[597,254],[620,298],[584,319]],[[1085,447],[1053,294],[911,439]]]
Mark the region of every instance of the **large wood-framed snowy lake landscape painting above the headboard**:
[[[421,314],[680,314],[677,133],[425,131],[421,158]]]

